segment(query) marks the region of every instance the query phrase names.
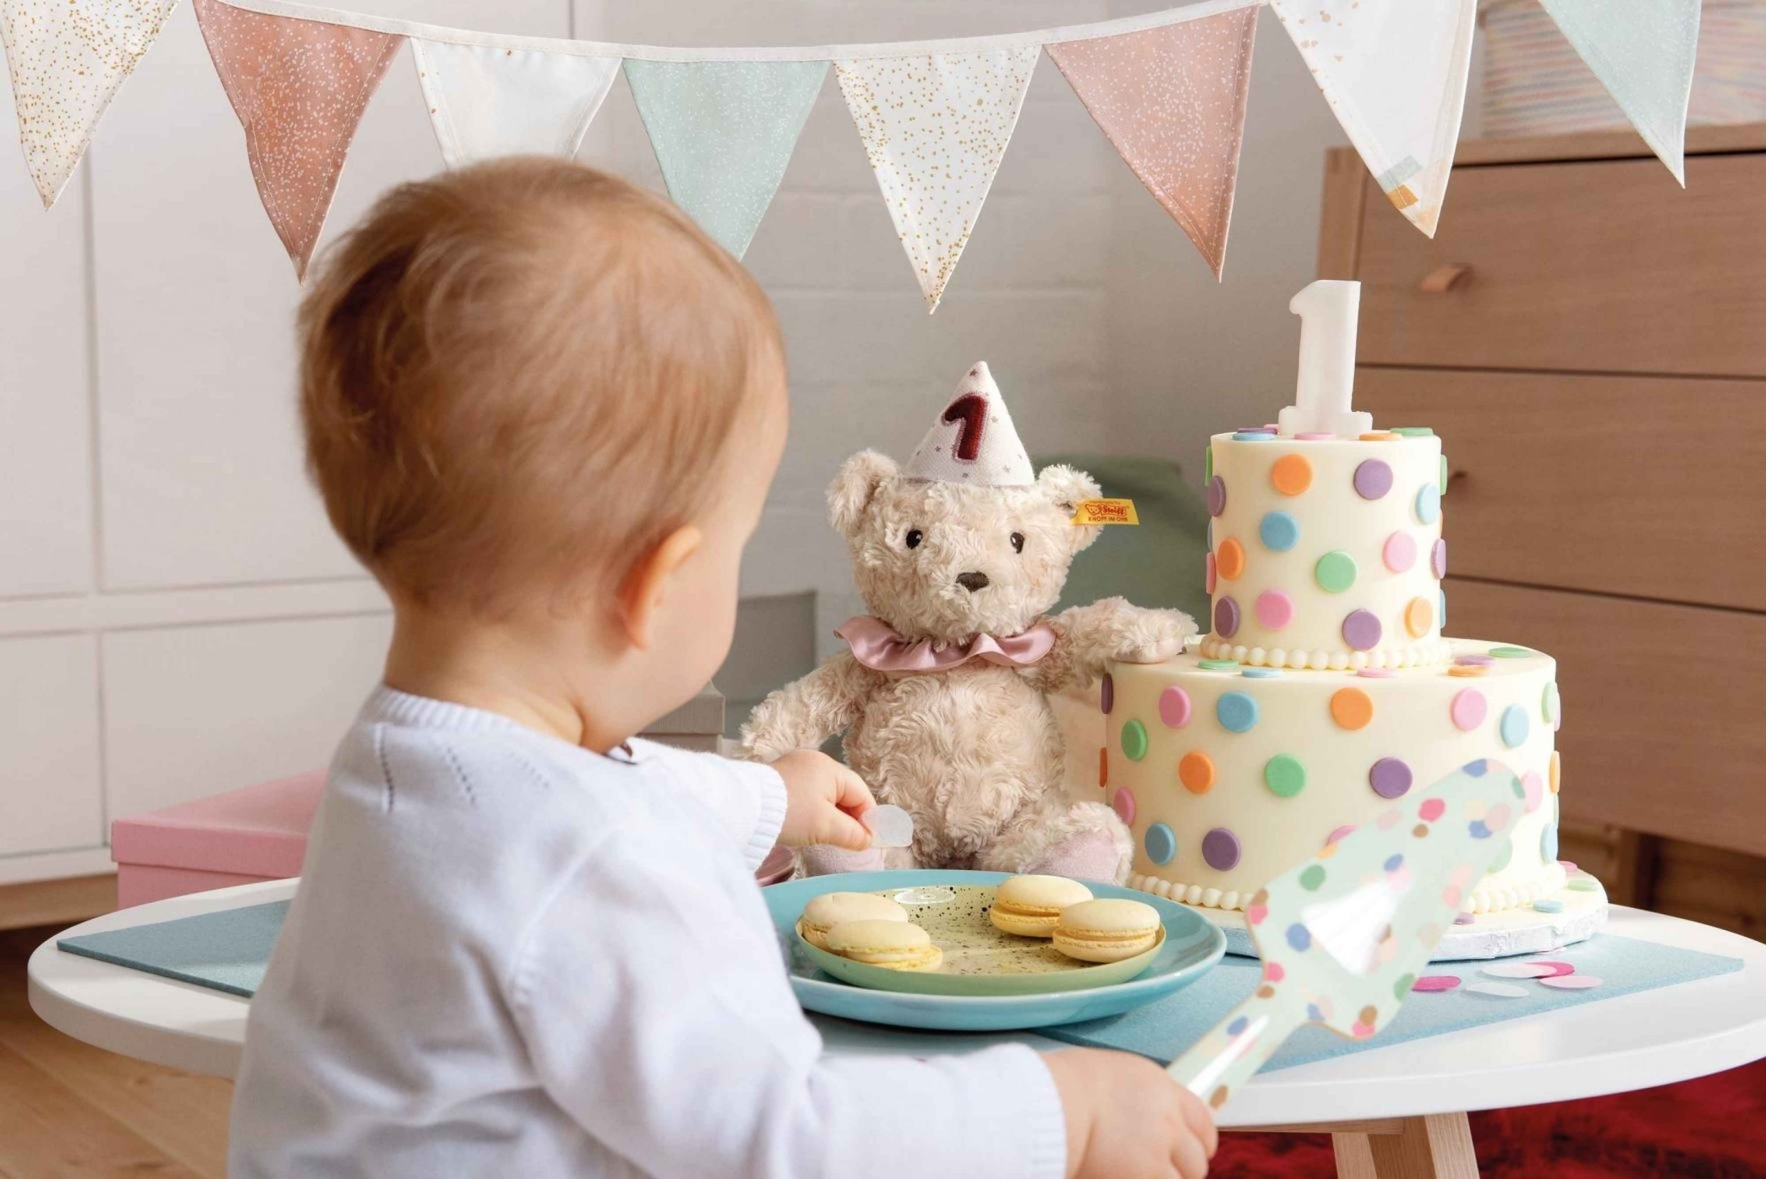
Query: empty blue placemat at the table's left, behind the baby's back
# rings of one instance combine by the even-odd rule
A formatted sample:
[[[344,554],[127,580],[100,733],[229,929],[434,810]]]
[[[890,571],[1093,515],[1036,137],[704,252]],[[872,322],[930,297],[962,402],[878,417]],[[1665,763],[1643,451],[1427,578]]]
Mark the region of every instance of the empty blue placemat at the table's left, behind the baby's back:
[[[274,900],[267,905],[64,937],[55,944],[67,953],[251,999],[263,981],[270,948],[275,946],[286,914],[288,902]]]

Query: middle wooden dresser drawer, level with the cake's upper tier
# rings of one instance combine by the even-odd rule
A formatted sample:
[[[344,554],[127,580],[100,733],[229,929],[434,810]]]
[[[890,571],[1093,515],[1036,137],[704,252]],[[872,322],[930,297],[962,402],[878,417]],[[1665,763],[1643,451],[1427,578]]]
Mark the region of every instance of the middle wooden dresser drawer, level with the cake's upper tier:
[[[1360,369],[1443,438],[1455,574],[1766,611],[1766,381]]]

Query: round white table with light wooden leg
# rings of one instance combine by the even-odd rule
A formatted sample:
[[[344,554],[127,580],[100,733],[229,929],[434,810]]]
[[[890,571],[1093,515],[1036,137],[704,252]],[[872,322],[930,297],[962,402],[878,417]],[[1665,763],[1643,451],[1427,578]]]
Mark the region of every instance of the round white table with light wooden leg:
[[[124,909],[67,934],[166,921],[286,900],[295,881],[242,884]],[[1220,1112],[1229,1130],[1335,1135],[1339,1174],[1475,1175],[1468,1110],[1646,1089],[1766,1057],[1766,946],[1738,934],[1614,907],[1607,930],[1743,960],[1731,974],[1487,1024],[1284,1068],[1257,1077]],[[245,999],[62,953],[30,957],[30,1006],[53,1027],[124,1055],[231,1077],[245,1038]],[[973,1052],[1035,1034],[911,1033],[812,1017],[828,1052]]]

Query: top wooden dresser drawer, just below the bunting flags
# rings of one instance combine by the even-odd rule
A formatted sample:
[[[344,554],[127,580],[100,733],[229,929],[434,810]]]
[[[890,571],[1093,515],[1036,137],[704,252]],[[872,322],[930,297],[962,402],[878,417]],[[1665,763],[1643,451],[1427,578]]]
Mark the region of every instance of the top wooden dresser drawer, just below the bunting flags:
[[[1370,198],[1360,360],[1766,376],[1762,191],[1766,154],[1459,168],[1432,242]]]

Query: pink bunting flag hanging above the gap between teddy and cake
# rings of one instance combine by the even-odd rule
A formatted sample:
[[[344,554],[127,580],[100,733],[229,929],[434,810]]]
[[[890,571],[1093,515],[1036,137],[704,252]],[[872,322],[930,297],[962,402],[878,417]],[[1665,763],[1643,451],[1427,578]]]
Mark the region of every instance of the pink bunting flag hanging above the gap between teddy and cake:
[[[1261,0],[1118,37],[1051,44],[1091,118],[1220,277]]]

